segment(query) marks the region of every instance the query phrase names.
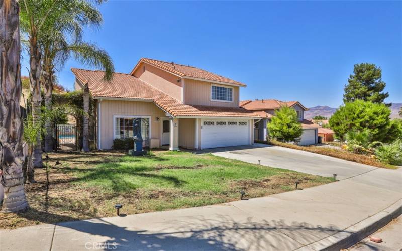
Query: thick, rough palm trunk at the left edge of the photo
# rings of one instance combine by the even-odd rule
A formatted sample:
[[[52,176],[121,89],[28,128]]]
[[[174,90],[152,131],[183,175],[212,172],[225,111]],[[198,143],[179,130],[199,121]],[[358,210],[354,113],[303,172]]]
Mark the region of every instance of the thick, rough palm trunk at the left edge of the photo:
[[[20,114],[20,28],[16,0],[0,0],[0,183],[4,187],[3,212],[28,207],[24,191]]]

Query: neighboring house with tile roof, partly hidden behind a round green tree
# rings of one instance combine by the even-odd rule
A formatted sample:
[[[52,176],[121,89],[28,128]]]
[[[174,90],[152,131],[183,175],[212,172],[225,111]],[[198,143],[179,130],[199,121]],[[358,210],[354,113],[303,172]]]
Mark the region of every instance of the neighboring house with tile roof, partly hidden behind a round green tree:
[[[303,134],[300,137],[299,145],[313,145],[318,143],[318,128],[319,125],[304,119],[304,111],[308,110],[298,101],[283,102],[275,99],[262,99],[262,100],[245,100],[240,102],[240,107],[243,107],[249,111],[253,111],[262,117],[261,120],[254,120],[255,130],[254,139],[255,140],[266,140],[268,135],[267,123],[270,121],[272,116],[275,115],[275,111],[282,106],[289,106],[296,110],[297,117],[302,124]]]

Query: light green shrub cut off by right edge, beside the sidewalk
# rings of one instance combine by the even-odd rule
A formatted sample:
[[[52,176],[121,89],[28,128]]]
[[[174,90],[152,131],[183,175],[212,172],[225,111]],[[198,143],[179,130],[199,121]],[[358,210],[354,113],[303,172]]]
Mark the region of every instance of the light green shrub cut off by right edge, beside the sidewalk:
[[[382,163],[402,165],[402,140],[397,139],[391,144],[379,146],[375,150],[375,155]]]

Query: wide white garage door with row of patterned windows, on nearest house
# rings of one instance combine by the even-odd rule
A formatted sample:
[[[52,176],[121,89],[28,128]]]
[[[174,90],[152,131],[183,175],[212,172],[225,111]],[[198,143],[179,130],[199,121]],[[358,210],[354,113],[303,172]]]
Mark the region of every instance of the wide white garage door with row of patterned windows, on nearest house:
[[[229,147],[250,144],[248,120],[202,120],[201,148]]]

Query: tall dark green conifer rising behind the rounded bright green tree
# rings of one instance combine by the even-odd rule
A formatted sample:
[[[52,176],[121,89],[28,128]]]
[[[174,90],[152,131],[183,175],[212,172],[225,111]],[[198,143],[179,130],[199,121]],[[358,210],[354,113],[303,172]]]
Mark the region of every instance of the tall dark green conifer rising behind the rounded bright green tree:
[[[389,96],[388,92],[382,92],[385,82],[381,79],[381,68],[375,64],[355,64],[353,75],[349,76],[348,84],[345,85],[343,102],[353,102],[361,99],[373,103],[383,103]]]

